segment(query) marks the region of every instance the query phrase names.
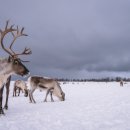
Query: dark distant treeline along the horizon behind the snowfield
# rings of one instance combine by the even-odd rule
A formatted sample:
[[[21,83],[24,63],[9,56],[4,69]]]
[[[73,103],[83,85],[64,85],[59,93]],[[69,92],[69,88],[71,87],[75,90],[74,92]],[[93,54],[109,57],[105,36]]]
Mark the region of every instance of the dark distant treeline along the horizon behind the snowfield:
[[[61,82],[119,82],[121,80],[123,80],[124,82],[130,82],[130,78],[122,78],[122,77],[115,77],[115,78],[100,78],[100,79],[57,79],[58,81]]]

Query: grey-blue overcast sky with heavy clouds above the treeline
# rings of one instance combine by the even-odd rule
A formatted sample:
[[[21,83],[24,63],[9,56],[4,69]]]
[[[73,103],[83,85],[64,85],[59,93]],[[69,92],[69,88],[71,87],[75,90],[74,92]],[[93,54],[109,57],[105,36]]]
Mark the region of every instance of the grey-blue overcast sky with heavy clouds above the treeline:
[[[32,75],[130,77],[130,0],[0,0],[8,19],[29,35],[14,49],[32,49]]]

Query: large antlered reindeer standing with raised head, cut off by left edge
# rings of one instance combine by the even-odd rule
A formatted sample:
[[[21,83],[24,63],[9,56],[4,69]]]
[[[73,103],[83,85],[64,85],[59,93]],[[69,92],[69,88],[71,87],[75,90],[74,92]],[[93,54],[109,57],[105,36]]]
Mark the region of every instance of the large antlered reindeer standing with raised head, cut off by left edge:
[[[15,53],[15,51],[12,50],[12,46],[17,38],[21,36],[27,36],[23,33],[24,28],[19,29],[14,28],[14,26],[9,27],[9,21],[6,22],[6,26],[3,30],[0,30],[0,44],[2,46],[2,49],[9,54],[8,58],[0,59],[0,114],[4,114],[3,108],[2,108],[2,99],[3,99],[3,89],[4,85],[6,84],[6,88],[8,89],[7,95],[6,95],[6,105],[8,102],[8,94],[9,94],[9,84],[10,84],[10,76],[13,74],[26,76],[29,74],[29,70],[23,65],[22,61],[18,56],[20,55],[29,55],[31,54],[31,50],[28,48],[25,48],[23,52],[21,53]],[[4,46],[4,38],[8,34],[12,34],[13,40],[11,41],[11,44],[9,48],[6,48]],[[26,61],[25,61],[26,62]]]

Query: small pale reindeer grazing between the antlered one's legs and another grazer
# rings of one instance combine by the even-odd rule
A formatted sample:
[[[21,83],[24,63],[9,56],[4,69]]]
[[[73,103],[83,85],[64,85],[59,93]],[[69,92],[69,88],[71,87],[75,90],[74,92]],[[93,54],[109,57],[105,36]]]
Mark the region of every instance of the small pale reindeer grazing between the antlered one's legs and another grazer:
[[[17,91],[18,91],[18,96],[20,95],[20,91],[22,91],[24,93],[24,96],[27,97],[28,96],[28,89],[27,89],[27,85],[24,81],[22,80],[16,80],[14,83],[14,89],[13,89],[13,97],[17,96]]]

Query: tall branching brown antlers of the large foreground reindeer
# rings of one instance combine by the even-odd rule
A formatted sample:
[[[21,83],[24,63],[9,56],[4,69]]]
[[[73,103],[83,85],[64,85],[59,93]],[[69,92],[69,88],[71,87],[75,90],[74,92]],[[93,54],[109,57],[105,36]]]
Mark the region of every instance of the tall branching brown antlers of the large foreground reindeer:
[[[3,50],[5,50],[9,55],[11,55],[12,57],[17,57],[18,55],[29,55],[31,54],[31,50],[29,48],[25,48],[24,51],[22,53],[19,53],[19,54],[16,54],[13,50],[12,50],[12,46],[14,44],[14,42],[16,41],[16,39],[18,37],[21,37],[21,36],[28,36],[27,34],[23,33],[24,31],[24,28],[22,28],[21,30],[19,29],[19,27],[17,26],[16,29],[14,29],[14,25],[11,25],[10,27],[8,27],[8,24],[9,24],[9,20],[6,22],[6,26],[5,26],[5,29],[4,30],[0,30],[0,33],[1,33],[1,38],[0,38],[0,43],[1,43],[1,46],[3,48]],[[12,36],[13,36],[13,40],[10,44],[10,47],[9,48],[5,48],[4,44],[3,44],[3,39],[5,37],[6,34],[8,33],[11,33]]]

